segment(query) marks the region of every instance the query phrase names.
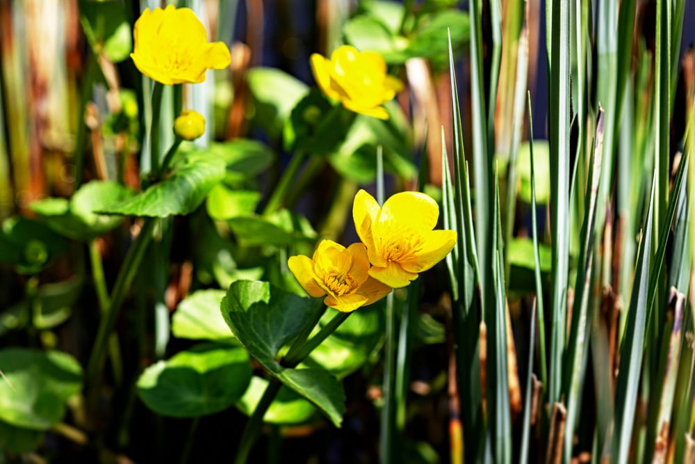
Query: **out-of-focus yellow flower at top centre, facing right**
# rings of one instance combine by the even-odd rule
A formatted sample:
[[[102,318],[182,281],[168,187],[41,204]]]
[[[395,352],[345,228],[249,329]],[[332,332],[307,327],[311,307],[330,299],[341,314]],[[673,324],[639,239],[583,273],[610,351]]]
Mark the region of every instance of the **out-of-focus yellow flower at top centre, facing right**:
[[[331,59],[311,55],[311,70],[328,97],[355,113],[389,119],[382,106],[403,88],[400,79],[386,74],[386,62],[376,51],[357,51],[350,45],[336,49]]]

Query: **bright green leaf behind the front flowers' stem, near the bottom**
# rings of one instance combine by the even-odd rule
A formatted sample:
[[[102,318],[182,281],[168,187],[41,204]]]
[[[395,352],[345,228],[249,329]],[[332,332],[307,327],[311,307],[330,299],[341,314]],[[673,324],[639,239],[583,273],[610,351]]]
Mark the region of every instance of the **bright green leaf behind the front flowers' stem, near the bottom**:
[[[236,402],[236,407],[247,416],[253,414],[258,406],[268,381],[265,378],[254,376],[244,396]],[[270,403],[270,408],[263,416],[266,424],[293,425],[302,424],[311,419],[316,413],[313,404],[300,397],[288,387],[281,387],[277,397]]]

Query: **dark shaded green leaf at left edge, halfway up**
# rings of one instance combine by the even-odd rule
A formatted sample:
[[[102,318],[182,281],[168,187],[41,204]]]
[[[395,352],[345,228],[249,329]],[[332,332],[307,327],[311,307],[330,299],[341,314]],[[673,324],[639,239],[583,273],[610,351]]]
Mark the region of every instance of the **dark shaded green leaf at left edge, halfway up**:
[[[62,254],[67,242],[38,221],[12,216],[0,230],[0,262],[22,274],[35,274]]]

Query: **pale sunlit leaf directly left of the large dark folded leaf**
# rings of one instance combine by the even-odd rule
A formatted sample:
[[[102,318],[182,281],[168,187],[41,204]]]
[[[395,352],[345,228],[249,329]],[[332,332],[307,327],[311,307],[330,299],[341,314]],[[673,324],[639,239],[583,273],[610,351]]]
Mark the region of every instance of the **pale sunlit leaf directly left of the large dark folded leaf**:
[[[175,337],[229,342],[234,335],[220,313],[224,290],[198,290],[179,303],[172,316]]]

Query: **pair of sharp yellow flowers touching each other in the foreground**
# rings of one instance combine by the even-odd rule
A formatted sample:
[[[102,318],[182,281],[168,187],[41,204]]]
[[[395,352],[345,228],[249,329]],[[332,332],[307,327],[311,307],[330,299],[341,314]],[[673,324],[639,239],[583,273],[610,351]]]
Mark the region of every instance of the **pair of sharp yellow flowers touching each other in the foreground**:
[[[357,310],[391,289],[406,287],[418,273],[444,259],[456,243],[455,231],[433,230],[439,206],[424,193],[396,193],[379,207],[372,195],[360,190],[352,217],[362,243],[345,248],[324,240],[313,258],[288,259],[306,293],[314,298],[327,295],[324,303],[338,311]]]

